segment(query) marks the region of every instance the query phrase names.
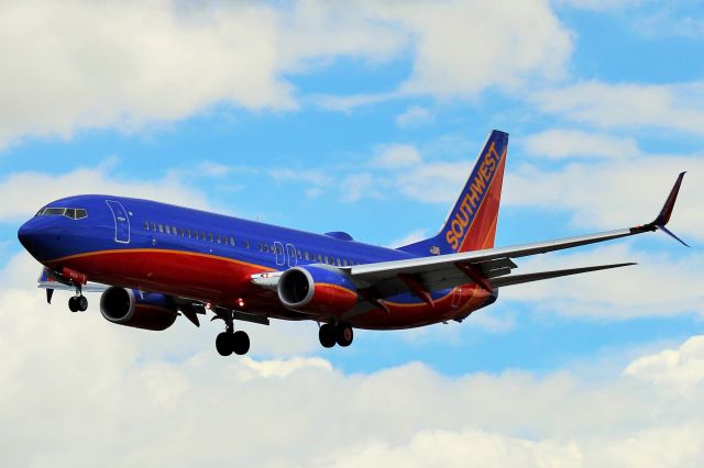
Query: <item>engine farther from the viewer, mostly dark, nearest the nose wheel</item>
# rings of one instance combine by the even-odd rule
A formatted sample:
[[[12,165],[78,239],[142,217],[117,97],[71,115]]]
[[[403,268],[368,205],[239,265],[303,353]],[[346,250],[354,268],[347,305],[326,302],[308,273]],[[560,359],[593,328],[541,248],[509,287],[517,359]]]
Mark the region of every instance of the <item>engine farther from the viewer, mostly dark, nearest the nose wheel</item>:
[[[112,323],[154,331],[168,328],[178,315],[168,296],[116,286],[100,297],[100,313]]]

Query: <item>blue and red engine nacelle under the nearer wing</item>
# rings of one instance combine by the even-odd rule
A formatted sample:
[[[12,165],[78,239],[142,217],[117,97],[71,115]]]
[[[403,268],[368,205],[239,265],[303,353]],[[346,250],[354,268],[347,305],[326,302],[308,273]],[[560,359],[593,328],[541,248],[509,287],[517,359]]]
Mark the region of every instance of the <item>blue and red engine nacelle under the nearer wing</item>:
[[[343,271],[315,266],[294,267],[278,279],[278,299],[292,310],[342,315],[356,303],[356,287]]]

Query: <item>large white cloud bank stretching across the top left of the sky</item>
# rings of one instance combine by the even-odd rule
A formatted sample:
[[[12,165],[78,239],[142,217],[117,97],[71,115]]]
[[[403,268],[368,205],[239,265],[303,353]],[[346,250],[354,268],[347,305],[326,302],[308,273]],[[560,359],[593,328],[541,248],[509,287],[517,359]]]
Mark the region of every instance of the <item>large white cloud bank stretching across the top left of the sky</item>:
[[[546,0],[3,2],[0,148],[80,129],[141,130],[218,103],[293,110],[290,77],[342,56],[374,66],[409,54],[414,69],[381,94],[314,98],[333,109],[514,89],[562,75],[570,53]]]

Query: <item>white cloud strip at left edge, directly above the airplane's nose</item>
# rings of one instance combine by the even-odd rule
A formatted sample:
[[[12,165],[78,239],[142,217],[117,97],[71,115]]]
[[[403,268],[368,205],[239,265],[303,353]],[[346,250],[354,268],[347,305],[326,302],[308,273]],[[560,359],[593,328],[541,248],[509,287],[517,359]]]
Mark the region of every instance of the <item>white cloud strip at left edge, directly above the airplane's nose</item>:
[[[157,180],[117,180],[110,171],[114,160],[97,167],[82,167],[64,174],[12,172],[0,179],[0,220],[24,219],[50,201],[77,193],[105,193],[138,197],[205,209],[206,197],[191,185],[182,180],[182,175],[167,172]],[[41,187],[41,190],[36,188]]]

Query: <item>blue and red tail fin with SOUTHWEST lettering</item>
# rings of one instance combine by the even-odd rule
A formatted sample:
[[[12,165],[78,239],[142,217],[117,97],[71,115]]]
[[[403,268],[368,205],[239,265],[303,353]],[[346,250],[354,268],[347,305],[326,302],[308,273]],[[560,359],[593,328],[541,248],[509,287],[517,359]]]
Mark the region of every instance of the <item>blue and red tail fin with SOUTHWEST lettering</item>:
[[[427,256],[492,248],[507,149],[508,134],[492,131],[440,232],[399,249]]]

